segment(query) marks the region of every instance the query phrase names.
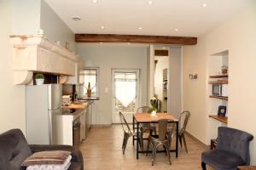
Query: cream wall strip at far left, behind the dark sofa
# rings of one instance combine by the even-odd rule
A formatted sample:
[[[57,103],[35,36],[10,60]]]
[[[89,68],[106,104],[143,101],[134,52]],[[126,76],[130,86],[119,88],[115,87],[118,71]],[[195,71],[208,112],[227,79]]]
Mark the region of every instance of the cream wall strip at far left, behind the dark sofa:
[[[13,83],[9,35],[12,31],[13,1],[0,1],[0,133],[20,128],[25,133],[25,88]]]

